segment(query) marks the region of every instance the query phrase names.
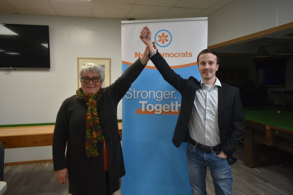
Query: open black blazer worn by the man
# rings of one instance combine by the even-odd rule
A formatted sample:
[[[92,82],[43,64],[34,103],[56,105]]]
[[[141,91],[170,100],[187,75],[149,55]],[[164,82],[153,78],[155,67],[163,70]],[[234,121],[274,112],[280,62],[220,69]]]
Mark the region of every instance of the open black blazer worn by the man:
[[[167,64],[165,59],[157,52],[150,57],[164,80],[171,84],[181,94],[181,107],[175,127],[172,142],[179,147],[182,142],[188,141],[188,123],[193,109],[195,92],[201,87],[200,82],[190,76],[183,79],[175,73]],[[239,140],[243,137],[245,129],[244,112],[242,109],[239,89],[226,83],[219,87],[218,112],[221,149],[227,155],[228,160],[234,153]],[[234,159],[234,162],[237,159]],[[233,162],[230,162],[233,164]]]

